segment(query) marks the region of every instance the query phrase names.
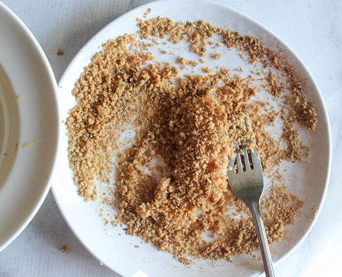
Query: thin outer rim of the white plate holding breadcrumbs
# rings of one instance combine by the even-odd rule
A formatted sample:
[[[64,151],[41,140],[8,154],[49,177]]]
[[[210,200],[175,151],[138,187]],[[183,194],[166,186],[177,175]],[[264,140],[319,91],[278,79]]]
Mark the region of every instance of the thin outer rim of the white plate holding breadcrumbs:
[[[83,50],[84,48],[87,46],[87,44],[90,42],[90,41],[93,41],[93,40],[96,40],[96,37],[99,36],[100,33],[106,31],[108,29],[108,27],[115,21],[123,18],[123,17],[126,17],[128,16],[128,14],[130,13],[134,13],[134,11],[136,9],[142,9],[144,7],[149,7],[149,5],[151,3],[155,4],[156,2],[159,2],[159,3],[163,3],[163,2],[172,2],[172,3],[176,3],[176,2],[184,2],[183,0],[155,0],[155,1],[152,1],[152,2],[149,2],[149,3],[146,3],[146,4],[142,4],[142,5],[139,5],[125,13],[123,13],[122,15],[120,15],[119,17],[115,18],[114,20],[112,20],[111,22],[107,23],[104,27],[102,27],[94,36],[92,36],[86,43],[84,46],[81,47],[81,49],[77,52],[77,54],[73,57],[73,59],[70,61],[70,63],[68,64],[68,66],[66,67],[66,69],[64,70],[59,82],[58,82],[58,87],[60,87],[60,84],[62,84],[64,82],[64,79],[67,77],[67,73],[68,71],[72,68],[73,64],[75,63],[75,61],[78,60],[78,58],[83,55]],[[321,196],[321,200],[320,200],[320,205],[317,207],[317,211],[316,211],[316,216],[313,218],[310,226],[308,227],[307,231],[305,232],[305,234],[302,236],[302,238],[290,249],[290,251],[288,251],[286,254],[284,254],[281,258],[279,258],[275,263],[274,263],[274,266],[278,265],[280,262],[282,262],[283,260],[285,260],[289,255],[291,255],[296,249],[298,249],[298,247],[302,244],[302,242],[307,238],[308,234],[311,232],[312,228],[314,227],[320,213],[321,213],[321,209],[323,207],[323,204],[324,204],[324,201],[325,201],[325,197],[326,197],[326,194],[327,194],[327,190],[328,190],[328,186],[329,186],[329,181],[330,181],[330,175],[331,175],[331,166],[332,166],[332,136],[331,136],[331,126],[330,126],[330,120],[329,120],[329,116],[328,116],[328,111],[327,111],[327,108],[326,108],[326,104],[325,104],[325,101],[323,99],[323,96],[322,96],[322,93],[321,93],[321,90],[316,82],[316,79],[314,78],[313,74],[311,73],[311,71],[308,69],[308,67],[306,66],[306,64],[303,62],[303,60],[300,58],[300,56],[297,54],[297,52],[290,46],[288,45],[281,37],[279,37],[276,33],[274,33],[269,27],[263,25],[262,23],[256,21],[255,19],[253,19],[252,17],[240,12],[239,10],[236,10],[235,8],[232,8],[231,6],[229,5],[226,5],[226,4],[223,4],[223,3],[219,3],[219,2],[215,2],[213,0],[188,0],[187,1],[188,3],[189,2],[192,2],[192,3],[198,3],[198,2],[202,2],[202,3],[207,3],[207,4],[211,4],[211,5],[215,5],[215,6],[218,6],[218,7],[221,7],[223,9],[229,9],[231,10],[232,12],[235,12],[236,14],[242,16],[242,17],[245,17],[246,19],[248,19],[250,22],[252,22],[253,24],[255,24],[257,27],[261,28],[262,30],[264,31],[267,31],[269,34],[271,34],[273,37],[275,37],[278,42],[280,44],[283,44],[286,49],[291,52],[291,54],[299,61],[300,65],[305,69],[305,71],[308,73],[308,76],[309,78],[312,80],[313,82],[313,85],[317,88],[317,91],[319,92],[318,93],[318,96],[320,98],[320,101],[321,101],[321,105],[322,105],[322,110],[321,110],[321,113],[324,114],[324,117],[326,119],[326,127],[327,127],[327,136],[328,136],[328,164],[327,164],[327,168],[326,168],[326,181],[325,181],[325,184],[324,184],[324,190],[323,190],[323,193],[322,193],[322,196]],[[103,42],[100,42],[100,43],[103,43]],[[58,155],[58,160],[59,160],[59,157],[60,154]],[[55,191],[55,186],[54,185],[55,183],[53,182],[52,186],[51,186],[51,190],[52,190],[52,193],[53,193],[53,196],[54,196],[54,199],[56,201],[56,204],[58,206],[58,208],[60,209],[60,212],[66,222],[66,224],[68,225],[68,227],[70,228],[70,230],[73,232],[73,234],[77,237],[77,239],[81,242],[81,244],[85,247],[85,249],[96,259],[98,260],[99,262],[101,262],[101,259],[100,257],[98,257],[96,254],[94,254],[91,249],[86,245],[86,242],[84,242],[81,237],[78,235],[78,233],[73,229],[71,223],[69,223],[67,220],[66,220],[66,215],[64,214],[64,211],[61,207],[61,204],[59,203],[59,200],[58,200],[58,196],[57,196],[57,192]],[[109,268],[110,270],[112,270],[114,273],[116,273],[117,275],[121,276],[121,274],[119,272],[117,272],[116,270],[114,270],[112,267],[109,267],[106,265],[106,263],[104,263],[104,265]],[[263,273],[263,271],[261,271],[260,275]]]

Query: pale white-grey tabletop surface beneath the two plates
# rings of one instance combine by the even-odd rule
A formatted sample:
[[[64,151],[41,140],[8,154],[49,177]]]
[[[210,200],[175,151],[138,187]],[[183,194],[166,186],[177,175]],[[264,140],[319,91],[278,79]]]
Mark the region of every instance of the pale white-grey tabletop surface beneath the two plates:
[[[102,27],[148,0],[2,0],[28,26],[58,81],[74,55]],[[342,1],[219,0],[264,24],[303,59],[330,118],[333,163],[321,214],[299,248],[275,268],[278,277],[341,276]],[[1,38],[0,38],[1,39]],[[61,49],[63,56],[58,56]],[[0,223],[1,224],[1,223]],[[60,248],[69,246],[63,253]],[[0,253],[0,277],[115,277],[64,222],[52,193],[26,229]]]

